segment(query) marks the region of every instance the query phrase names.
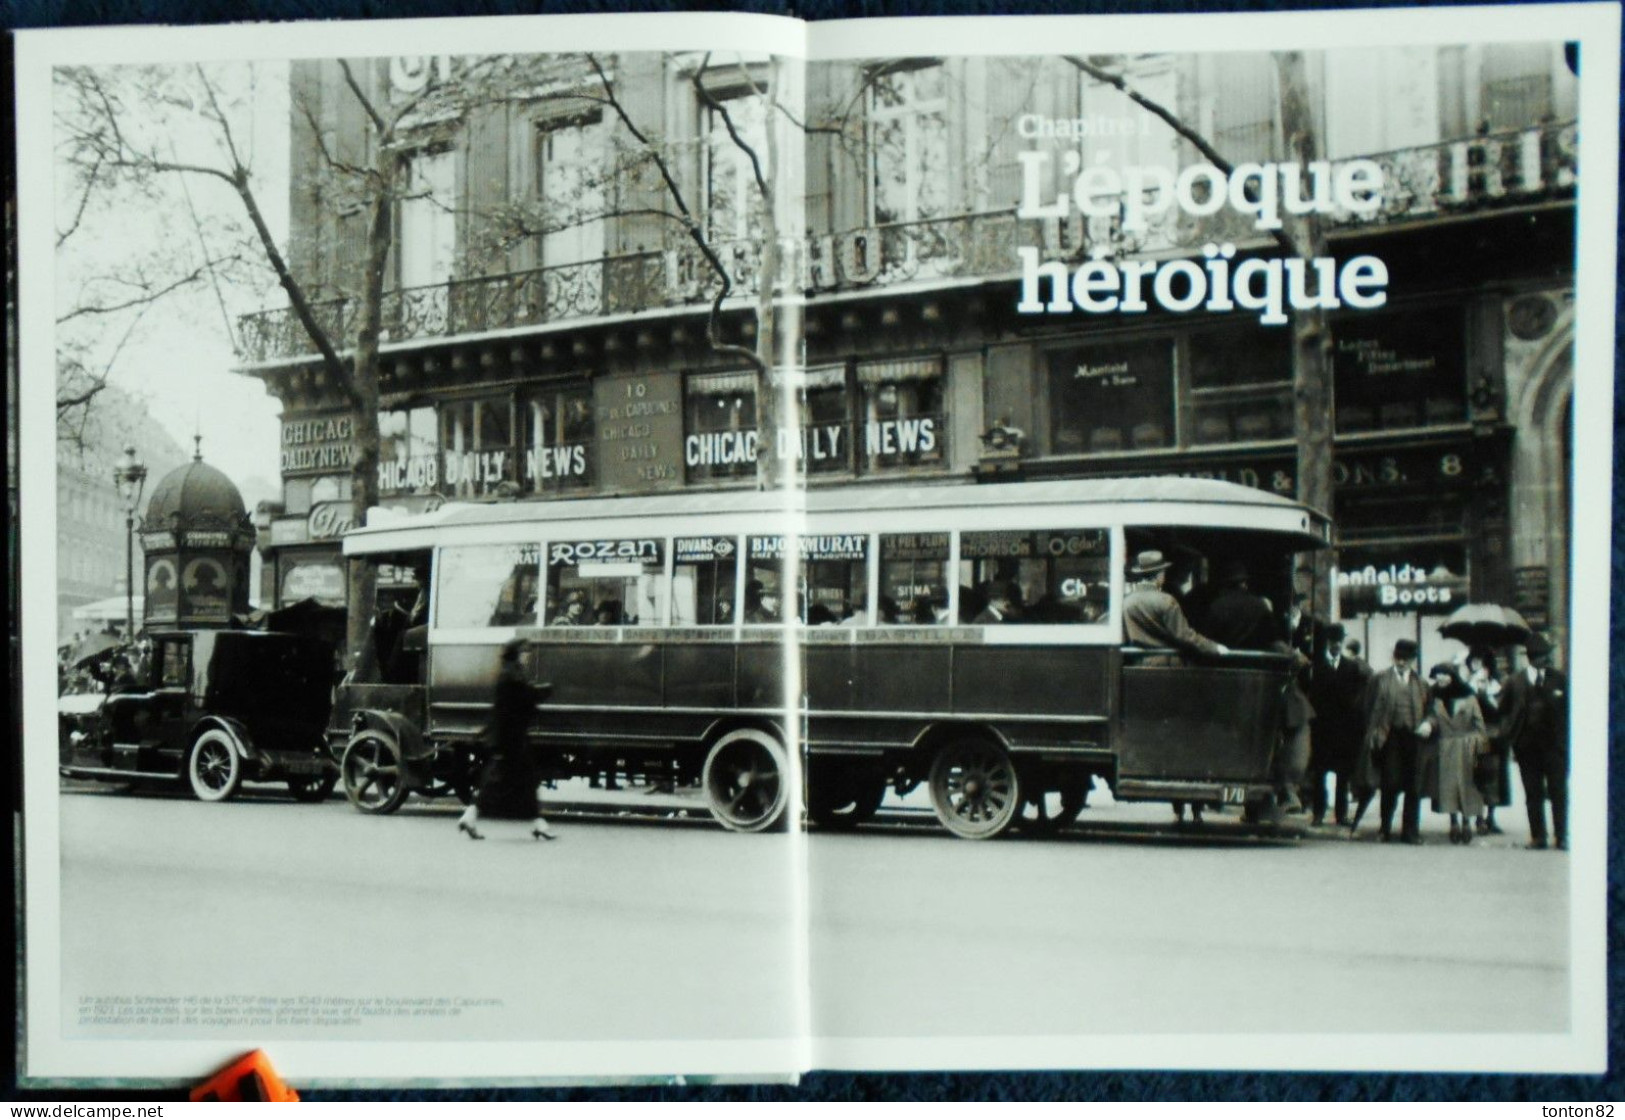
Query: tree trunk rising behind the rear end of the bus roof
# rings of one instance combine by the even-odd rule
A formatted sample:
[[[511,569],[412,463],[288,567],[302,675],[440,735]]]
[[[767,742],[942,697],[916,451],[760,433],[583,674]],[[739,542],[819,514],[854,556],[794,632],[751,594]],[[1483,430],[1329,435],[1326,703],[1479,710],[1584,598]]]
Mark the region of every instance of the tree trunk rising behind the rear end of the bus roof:
[[[1289,158],[1297,163],[1302,177],[1320,158],[1315,133],[1315,115],[1308,98],[1308,73],[1303,54],[1284,50],[1276,54],[1280,73],[1280,133]],[[1300,197],[1306,197],[1300,187]],[[1305,262],[1326,255],[1326,234],[1320,216],[1285,215],[1285,232]],[[1320,294],[1320,271],[1305,268],[1310,296]],[[1297,431],[1298,501],[1305,506],[1332,512],[1332,364],[1331,333],[1326,312],[1316,306],[1292,314],[1292,421]],[[1313,611],[1320,618],[1331,614],[1331,549],[1313,554],[1315,585]]]

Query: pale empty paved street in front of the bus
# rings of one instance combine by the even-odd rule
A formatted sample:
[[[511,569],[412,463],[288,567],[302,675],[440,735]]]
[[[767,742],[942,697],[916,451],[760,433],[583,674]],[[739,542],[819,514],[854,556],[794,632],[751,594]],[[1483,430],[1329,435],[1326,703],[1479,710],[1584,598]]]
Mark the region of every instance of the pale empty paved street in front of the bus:
[[[195,995],[185,1037],[240,1032],[208,998],[242,993],[332,1001],[283,1008],[266,1039],[793,1032],[786,839],[650,813],[682,798],[590,797],[596,814],[556,813],[556,844],[474,844],[450,803],[366,818],[270,790],[216,806],[75,787],[65,1006]],[[1562,1031],[1566,857],[1505,821],[1467,849],[1435,819],[1424,849],[1263,840],[1233,814],[1176,831],[1167,806],[1095,795],[1061,837],[975,844],[918,793],[889,798],[858,834],[811,837],[814,1027]]]

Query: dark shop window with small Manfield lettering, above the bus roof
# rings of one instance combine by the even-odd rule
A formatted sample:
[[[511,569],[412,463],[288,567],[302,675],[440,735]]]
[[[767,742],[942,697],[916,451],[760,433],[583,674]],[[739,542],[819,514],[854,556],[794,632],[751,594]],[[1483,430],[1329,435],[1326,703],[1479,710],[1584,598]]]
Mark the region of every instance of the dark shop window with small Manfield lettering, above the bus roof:
[[[1050,445],[1060,455],[1172,447],[1173,341],[1053,351]]]

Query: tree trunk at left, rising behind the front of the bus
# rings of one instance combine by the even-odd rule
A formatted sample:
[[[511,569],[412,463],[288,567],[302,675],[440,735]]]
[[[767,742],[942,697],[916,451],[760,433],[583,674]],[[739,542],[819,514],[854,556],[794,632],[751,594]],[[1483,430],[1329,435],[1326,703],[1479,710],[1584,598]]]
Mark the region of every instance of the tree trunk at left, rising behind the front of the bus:
[[[384,273],[388,265],[393,232],[395,153],[379,140],[375,171],[379,190],[367,208],[367,265],[361,281],[358,307],[354,369],[349,377],[351,428],[356,462],[349,475],[349,499],[356,525],[364,525],[367,510],[379,504],[379,335],[384,322]],[[377,592],[377,567],[349,562],[349,616],[344,639],[354,658],[367,640]]]

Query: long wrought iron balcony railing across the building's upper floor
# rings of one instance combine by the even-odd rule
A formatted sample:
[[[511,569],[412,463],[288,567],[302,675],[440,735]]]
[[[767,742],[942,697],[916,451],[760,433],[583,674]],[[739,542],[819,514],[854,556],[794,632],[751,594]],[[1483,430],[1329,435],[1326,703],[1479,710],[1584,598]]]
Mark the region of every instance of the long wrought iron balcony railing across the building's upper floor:
[[[1334,213],[1332,229],[1398,226],[1461,213],[1490,213],[1544,198],[1573,195],[1578,177],[1575,122],[1402,148],[1365,156],[1383,169],[1383,205],[1370,215]],[[1146,228],[1126,231],[1121,213],[1068,219],[1017,219],[1012,210],[928,218],[812,237],[804,252],[786,254],[803,291],[834,291],[921,280],[1008,276],[1016,249],[1037,245],[1051,260],[1081,260],[1092,250],[1112,255],[1194,252],[1209,241],[1256,241],[1248,215],[1224,206],[1194,218],[1162,208]],[[717,245],[733,294],[751,296],[760,278],[760,244]],[[452,280],[385,294],[384,341],[455,338],[491,330],[535,327],[653,307],[704,304],[717,276],[697,247],[670,245],[528,271]],[[315,319],[341,348],[353,343],[356,302],[315,306]],[[240,320],[249,362],[309,354],[315,348],[288,309]]]

